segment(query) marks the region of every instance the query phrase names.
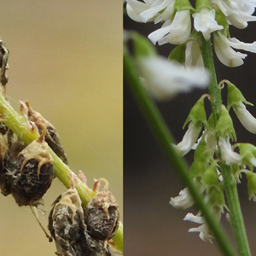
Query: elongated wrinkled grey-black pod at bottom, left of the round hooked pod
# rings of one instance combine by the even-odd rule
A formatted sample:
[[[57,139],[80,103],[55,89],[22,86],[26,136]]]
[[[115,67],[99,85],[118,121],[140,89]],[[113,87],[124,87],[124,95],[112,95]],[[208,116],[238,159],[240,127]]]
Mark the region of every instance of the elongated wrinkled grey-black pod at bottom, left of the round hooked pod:
[[[49,213],[51,236],[55,239],[57,255],[111,256],[109,247],[91,238],[84,224],[84,211],[78,192],[73,187],[60,195]]]

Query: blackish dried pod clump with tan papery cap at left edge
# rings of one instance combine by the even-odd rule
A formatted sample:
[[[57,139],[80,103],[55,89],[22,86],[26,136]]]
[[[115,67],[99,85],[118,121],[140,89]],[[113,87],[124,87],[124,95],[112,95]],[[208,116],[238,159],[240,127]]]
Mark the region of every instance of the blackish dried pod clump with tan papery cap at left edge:
[[[19,206],[37,206],[49,189],[54,173],[47,148],[42,133],[28,146],[17,139],[4,152],[1,191],[3,195],[12,194]]]

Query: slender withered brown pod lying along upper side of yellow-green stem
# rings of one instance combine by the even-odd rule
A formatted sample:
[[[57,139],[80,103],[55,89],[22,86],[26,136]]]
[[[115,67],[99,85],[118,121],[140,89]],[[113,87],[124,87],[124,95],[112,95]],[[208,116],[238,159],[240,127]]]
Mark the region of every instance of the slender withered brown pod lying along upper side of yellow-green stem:
[[[61,139],[55,131],[54,125],[51,125],[48,120],[44,119],[41,113],[33,110],[29,102],[20,102],[20,112],[25,115],[29,121],[35,123],[40,132],[42,132],[43,126],[46,127],[47,132],[45,135],[45,142],[48,143],[49,148],[51,148],[66,165],[68,165],[67,154],[61,146]]]

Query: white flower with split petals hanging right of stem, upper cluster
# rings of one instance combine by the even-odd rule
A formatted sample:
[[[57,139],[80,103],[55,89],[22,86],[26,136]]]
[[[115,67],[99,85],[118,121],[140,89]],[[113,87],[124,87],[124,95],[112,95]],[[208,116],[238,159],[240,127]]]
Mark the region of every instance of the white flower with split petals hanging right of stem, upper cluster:
[[[218,60],[228,67],[241,66],[243,64],[242,59],[247,55],[236,52],[231,47],[256,53],[256,42],[246,44],[236,38],[226,38],[221,32],[214,33],[214,49]]]

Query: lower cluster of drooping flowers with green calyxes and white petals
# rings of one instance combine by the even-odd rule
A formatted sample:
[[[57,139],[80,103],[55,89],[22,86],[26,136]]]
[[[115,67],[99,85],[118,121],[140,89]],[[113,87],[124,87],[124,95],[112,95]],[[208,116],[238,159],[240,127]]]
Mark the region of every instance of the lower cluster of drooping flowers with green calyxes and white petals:
[[[234,146],[230,143],[231,140],[236,140],[236,133],[233,128],[232,120],[228,110],[233,108],[236,116],[240,119],[241,124],[252,133],[256,133],[256,119],[247,111],[245,104],[250,104],[241,95],[241,91],[234,84],[225,81],[228,84],[228,109],[224,105],[219,109],[219,119],[216,126],[212,126],[211,118],[205,121],[204,105],[202,99],[199,100],[189,113],[189,118],[186,122],[189,123],[188,131],[186,131],[182,142],[174,145],[177,153],[180,155],[187,154],[190,149],[195,149],[195,161],[190,167],[191,177],[201,194],[205,193],[205,201],[219,221],[221,214],[224,212],[224,196],[223,196],[223,177],[218,171],[218,159],[214,160],[216,151],[221,153],[221,159],[231,166],[234,178],[240,182],[241,172],[247,174],[247,186],[249,200],[253,198],[256,201],[256,173],[253,172],[253,167],[256,167],[256,147],[249,143],[236,143],[238,150],[235,151]],[[201,104],[199,104],[201,102]],[[197,106],[197,107],[196,107]],[[203,119],[198,119],[194,113],[199,113]],[[199,125],[201,122],[201,125]],[[195,125],[197,124],[197,125]],[[205,131],[198,139],[202,124]],[[218,143],[216,141],[218,137]],[[246,170],[248,167],[249,170]],[[214,193],[214,195],[212,195]],[[214,198],[214,200],[211,199]],[[218,198],[218,200],[216,200]],[[192,196],[189,194],[189,189],[185,188],[180,191],[179,195],[172,197],[170,204],[178,209],[186,209],[194,204]],[[203,241],[212,241],[211,231],[205,224],[204,218],[199,212],[196,216],[188,213],[184,220],[189,220],[196,224],[201,224],[197,228],[189,229],[189,232],[200,232],[200,237]]]

